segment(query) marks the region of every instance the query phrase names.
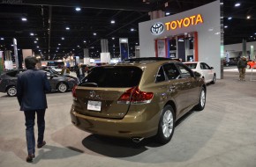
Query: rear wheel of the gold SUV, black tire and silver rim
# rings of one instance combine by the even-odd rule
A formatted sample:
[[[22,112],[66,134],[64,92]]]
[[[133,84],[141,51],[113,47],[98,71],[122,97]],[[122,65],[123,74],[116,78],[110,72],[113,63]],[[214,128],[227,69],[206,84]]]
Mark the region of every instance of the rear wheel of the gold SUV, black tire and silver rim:
[[[175,113],[170,105],[164,106],[158,123],[157,142],[166,144],[172,138],[175,128]]]

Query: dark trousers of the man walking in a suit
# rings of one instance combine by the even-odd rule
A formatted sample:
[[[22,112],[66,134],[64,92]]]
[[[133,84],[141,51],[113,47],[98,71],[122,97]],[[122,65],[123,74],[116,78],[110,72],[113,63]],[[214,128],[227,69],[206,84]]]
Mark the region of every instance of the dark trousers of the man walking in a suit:
[[[28,154],[34,154],[34,149],[35,149],[35,140],[34,140],[35,113],[37,115],[37,128],[38,128],[37,144],[41,144],[43,142],[43,134],[45,129],[45,121],[44,121],[45,109],[24,111],[25,119],[26,119],[26,122],[25,122],[26,147],[27,147]]]

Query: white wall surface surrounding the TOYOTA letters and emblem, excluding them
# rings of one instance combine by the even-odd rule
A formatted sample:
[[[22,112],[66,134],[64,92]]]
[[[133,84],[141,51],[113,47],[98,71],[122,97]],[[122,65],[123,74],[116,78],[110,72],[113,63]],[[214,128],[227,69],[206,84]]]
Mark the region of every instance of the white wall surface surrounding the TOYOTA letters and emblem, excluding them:
[[[204,23],[190,25],[188,27],[177,28],[166,31],[160,35],[154,35],[150,28],[157,22],[162,24],[182,18],[200,14]],[[147,22],[139,23],[139,46],[140,57],[155,56],[155,39],[163,39],[179,34],[198,32],[199,61],[207,62],[215,68],[217,78],[221,78],[221,25],[220,25],[220,1],[206,4],[190,11],[184,11],[169,17],[158,18]],[[165,27],[166,28],[166,27]]]

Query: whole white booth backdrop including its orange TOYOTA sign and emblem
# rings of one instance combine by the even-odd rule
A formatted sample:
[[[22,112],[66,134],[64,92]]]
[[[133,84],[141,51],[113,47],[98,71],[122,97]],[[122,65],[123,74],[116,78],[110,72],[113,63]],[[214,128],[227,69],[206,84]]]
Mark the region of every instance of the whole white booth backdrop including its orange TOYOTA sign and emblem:
[[[155,41],[159,39],[197,33],[197,49],[194,48],[194,55],[197,54],[195,60],[207,62],[214,67],[216,76],[220,79],[222,70],[220,5],[218,0],[190,11],[139,23],[139,56],[157,56]],[[151,30],[154,26],[158,26],[156,32]]]

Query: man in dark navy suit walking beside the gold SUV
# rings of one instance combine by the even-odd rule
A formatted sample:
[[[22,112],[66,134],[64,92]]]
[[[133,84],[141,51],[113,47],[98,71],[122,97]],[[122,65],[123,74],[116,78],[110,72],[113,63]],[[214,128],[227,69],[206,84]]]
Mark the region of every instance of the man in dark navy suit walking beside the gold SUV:
[[[37,115],[38,138],[37,148],[46,144],[43,141],[45,121],[44,114],[47,108],[46,91],[50,91],[50,84],[46,73],[35,69],[37,60],[33,56],[25,59],[26,71],[18,75],[17,98],[20,111],[24,111],[26,120],[26,146],[28,156],[26,162],[31,163],[34,158],[34,120]]]

